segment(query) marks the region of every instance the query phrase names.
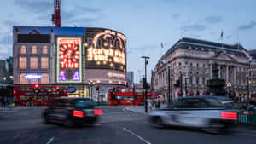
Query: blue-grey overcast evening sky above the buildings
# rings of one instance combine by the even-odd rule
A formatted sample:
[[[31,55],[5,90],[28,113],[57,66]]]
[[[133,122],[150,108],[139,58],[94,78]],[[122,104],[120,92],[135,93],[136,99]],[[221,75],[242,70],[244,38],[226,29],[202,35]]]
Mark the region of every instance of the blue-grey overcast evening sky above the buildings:
[[[12,26],[53,26],[54,0],[6,0],[0,9],[0,59],[12,55]],[[256,49],[255,0],[61,0],[61,26],[104,27],[127,37],[127,70],[143,75],[182,37]],[[160,43],[164,43],[161,49]],[[139,72],[140,71],[140,72]]]

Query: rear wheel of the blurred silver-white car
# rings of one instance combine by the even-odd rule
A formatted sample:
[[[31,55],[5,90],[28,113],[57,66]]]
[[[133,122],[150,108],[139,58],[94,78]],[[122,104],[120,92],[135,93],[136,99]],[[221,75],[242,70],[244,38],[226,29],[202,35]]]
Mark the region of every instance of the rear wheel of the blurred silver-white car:
[[[211,121],[204,131],[211,134],[220,134],[224,132],[224,125],[220,122]]]

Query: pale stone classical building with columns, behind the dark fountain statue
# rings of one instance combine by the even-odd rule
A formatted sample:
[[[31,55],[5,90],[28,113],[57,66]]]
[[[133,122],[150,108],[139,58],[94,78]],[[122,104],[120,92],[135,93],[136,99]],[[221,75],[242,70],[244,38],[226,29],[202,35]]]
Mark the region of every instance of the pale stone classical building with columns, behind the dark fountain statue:
[[[228,45],[184,37],[168,49],[154,67],[151,87],[166,98],[170,78],[173,98],[203,95],[207,90],[207,80],[212,78],[212,65],[216,62],[219,77],[226,84],[231,84],[225,88],[226,91],[230,95],[247,95],[249,59],[247,50],[240,44]],[[181,81],[178,82],[179,79]]]

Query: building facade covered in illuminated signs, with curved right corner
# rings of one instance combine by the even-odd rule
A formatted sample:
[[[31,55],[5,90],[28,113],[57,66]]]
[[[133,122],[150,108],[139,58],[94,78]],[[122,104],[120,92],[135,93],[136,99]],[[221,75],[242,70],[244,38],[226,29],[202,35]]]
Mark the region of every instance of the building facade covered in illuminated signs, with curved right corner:
[[[125,86],[126,37],[121,32],[90,27],[14,26],[15,85],[75,87],[73,96],[107,95]]]

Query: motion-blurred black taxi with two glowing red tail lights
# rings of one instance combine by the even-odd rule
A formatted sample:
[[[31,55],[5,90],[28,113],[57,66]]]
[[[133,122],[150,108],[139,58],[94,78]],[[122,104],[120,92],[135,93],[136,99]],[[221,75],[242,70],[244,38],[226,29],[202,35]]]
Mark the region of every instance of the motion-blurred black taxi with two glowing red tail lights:
[[[95,124],[102,110],[88,98],[56,98],[43,112],[44,123],[61,123],[67,127]]]

